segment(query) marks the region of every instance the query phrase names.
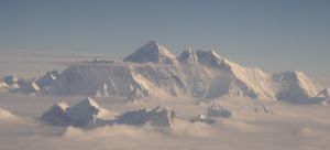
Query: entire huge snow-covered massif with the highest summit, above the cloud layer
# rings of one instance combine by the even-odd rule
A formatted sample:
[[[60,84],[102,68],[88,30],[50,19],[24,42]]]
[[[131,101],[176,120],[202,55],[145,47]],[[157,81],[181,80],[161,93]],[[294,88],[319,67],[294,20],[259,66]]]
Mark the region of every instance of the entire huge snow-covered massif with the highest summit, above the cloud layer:
[[[122,96],[127,100],[160,95],[202,98],[229,95],[299,101],[320,92],[299,72],[270,75],[240,66],[215,51],[188,49],[175,57],[154,41],[123,62],[85,62],[70,65],[55,81],[50,75],[44,78],[45,83],[52,83],[42,87],[45,94]]]

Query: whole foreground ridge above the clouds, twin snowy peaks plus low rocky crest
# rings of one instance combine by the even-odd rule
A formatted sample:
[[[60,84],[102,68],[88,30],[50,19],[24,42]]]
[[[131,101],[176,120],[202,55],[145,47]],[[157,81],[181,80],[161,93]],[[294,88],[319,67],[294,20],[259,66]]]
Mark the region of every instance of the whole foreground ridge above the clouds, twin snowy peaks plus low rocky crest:
[[[65,101],[56,103],[42,115],[41,120],[54,126],[92,128],[114,124],[173,127],[175,119],[175,111],[162,106],[154,109],[142,108],[127,111],[110,120],[105,118],[107,114],[109,114],[109,110],[101,108],[96,100],[88,97],[72,107]]]

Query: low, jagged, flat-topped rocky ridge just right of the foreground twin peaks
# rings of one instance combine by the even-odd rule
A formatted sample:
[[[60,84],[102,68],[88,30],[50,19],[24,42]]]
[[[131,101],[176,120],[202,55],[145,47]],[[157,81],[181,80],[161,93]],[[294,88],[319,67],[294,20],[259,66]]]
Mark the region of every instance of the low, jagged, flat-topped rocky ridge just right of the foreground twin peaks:
[[[128,111],[120,115],[117,124],[142,126],[152,125],[155,127],[172,127],[174,126],[175,111],[173,109],[157,106],[154,109],[139,109]]]

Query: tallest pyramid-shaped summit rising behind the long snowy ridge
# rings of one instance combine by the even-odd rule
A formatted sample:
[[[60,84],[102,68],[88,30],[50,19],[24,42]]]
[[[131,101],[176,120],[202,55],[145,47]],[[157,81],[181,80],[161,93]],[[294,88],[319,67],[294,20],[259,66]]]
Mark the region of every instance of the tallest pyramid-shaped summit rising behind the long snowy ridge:
[[[175,55],[172,54],[165,46],[160,45],[155,41],[151,41],[133,54],[125,57],[124,62],[174,64],[176,63],[176,60]]]

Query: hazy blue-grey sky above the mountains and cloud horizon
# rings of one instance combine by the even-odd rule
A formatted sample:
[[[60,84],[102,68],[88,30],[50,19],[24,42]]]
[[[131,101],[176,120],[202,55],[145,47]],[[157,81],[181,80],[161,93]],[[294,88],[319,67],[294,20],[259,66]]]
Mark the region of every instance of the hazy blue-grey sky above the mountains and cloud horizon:
[[[122,57],[150,40],[330,78],[330,0],[0,1],[0,51]]]

